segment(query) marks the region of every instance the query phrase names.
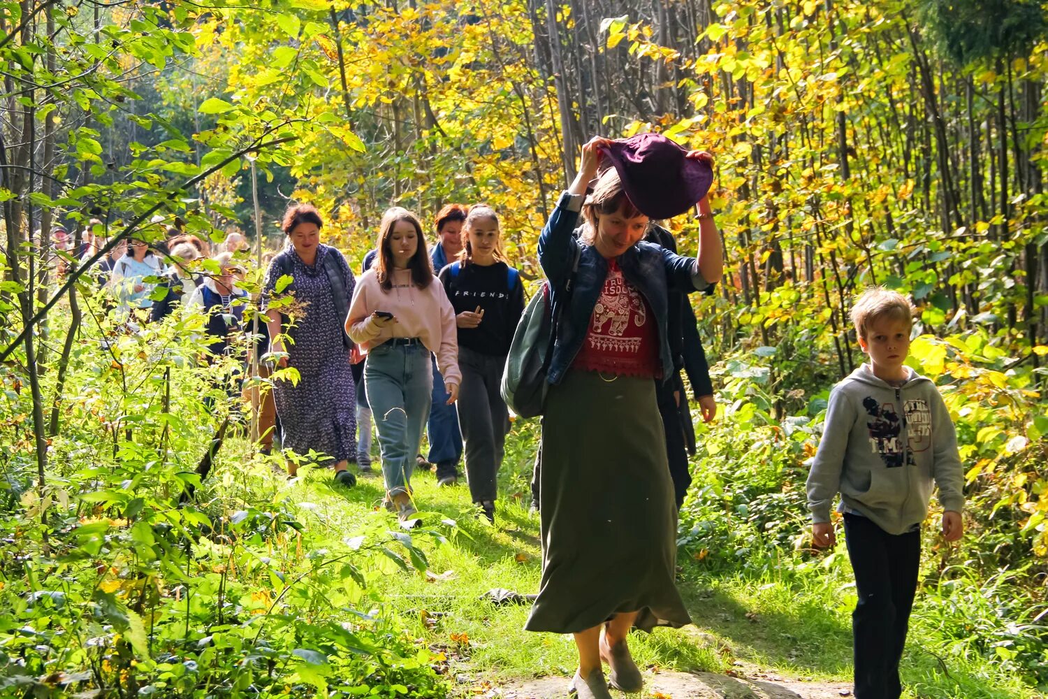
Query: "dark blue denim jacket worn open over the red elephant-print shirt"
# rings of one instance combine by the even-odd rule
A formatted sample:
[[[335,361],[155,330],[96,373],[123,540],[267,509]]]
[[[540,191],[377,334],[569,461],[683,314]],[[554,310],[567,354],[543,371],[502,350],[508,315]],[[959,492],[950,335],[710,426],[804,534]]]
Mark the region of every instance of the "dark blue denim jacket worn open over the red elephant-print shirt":
[[[596,306],[605,279],[608,261],[596,247],[580,242],[572,232],[578,222],[584,197],[565,192],[550,215],[539,237],[539,264],[546,272],[552,292],[553,309],[560,308],[565,297],[565,284],[571,277],[575,250],[578,249],[578,270],[571,282],[568,305],[561,313],[560,326],[553,341],[553,356],[546,371],[546,380],[560,384],[586,340],[593,308]],[[618,257],[618,266],[626,281],[637,289],[651,306],[658,324],[659,361],[662,376],[674,372],[667,325],[669,303],[667,292],[701,291],[709,286],[699,272],[698,260],[676,255],[652,243],[639,242]]]

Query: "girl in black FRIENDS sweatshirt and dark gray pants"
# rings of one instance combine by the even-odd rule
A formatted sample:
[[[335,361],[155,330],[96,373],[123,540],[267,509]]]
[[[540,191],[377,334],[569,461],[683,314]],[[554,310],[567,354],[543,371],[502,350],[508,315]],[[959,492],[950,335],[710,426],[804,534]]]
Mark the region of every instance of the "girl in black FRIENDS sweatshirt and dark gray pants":
[[[458,420],[470,495],[494,524],[498,473],[509,431],[509,411],[500,393],[502,370],[524,312],[524,288],[502,253],[495,210],[471,206],[462,233],[465,245],[458,261],[440,271],[440,281],[458,326]]]

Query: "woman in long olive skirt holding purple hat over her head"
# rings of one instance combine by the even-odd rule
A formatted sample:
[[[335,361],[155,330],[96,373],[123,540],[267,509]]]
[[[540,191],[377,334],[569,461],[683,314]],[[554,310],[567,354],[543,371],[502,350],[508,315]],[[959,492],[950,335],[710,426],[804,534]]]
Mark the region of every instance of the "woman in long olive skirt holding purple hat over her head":
[[[602,160],[614,167],[587,196]],[[721,278],[712,161],[657,134],[594,137],[539,238],[563,310],[542,422],[542,583],[525,628],[574,635],[580,699],[610,699],[609,683],[641,691],[631,628],[691,622],[674,584],[677,510],[655,388],[674,372],[668,292]],[[651,219],[696,203],[698,257],[642,242]]]

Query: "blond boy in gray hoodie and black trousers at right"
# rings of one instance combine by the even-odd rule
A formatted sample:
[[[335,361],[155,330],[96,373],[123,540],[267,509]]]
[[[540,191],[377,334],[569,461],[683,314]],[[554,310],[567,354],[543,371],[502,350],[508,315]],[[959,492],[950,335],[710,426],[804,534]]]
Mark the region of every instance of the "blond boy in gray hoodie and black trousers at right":
[[[920,566],[920,524],[933,484],[945,510],[942,533],[963,533],[963,475],[954,423],[931,379],[903,365],[913,306],[883,288],[852,308],[869,355],[830,393],[818,452],[808,475],[815,546],[836,544],[830,506],[837,493],[855,572],[852,613],[856,699],[898,699],[899,659]]]

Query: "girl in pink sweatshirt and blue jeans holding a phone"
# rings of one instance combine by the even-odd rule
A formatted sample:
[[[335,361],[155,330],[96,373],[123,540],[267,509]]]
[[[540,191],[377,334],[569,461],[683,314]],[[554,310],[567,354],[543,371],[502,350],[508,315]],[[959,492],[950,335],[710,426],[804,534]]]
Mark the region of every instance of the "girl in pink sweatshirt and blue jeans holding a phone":
[[[364,383],[378,430],[387,507],[412,521],[411,472],[430,414],[437,356],[451,394],[458,398],[458,335],[455,310],[433,276],[422,226],[406,209],[383,216],[378,256],[353,290],[346,331],[368,353]]]

